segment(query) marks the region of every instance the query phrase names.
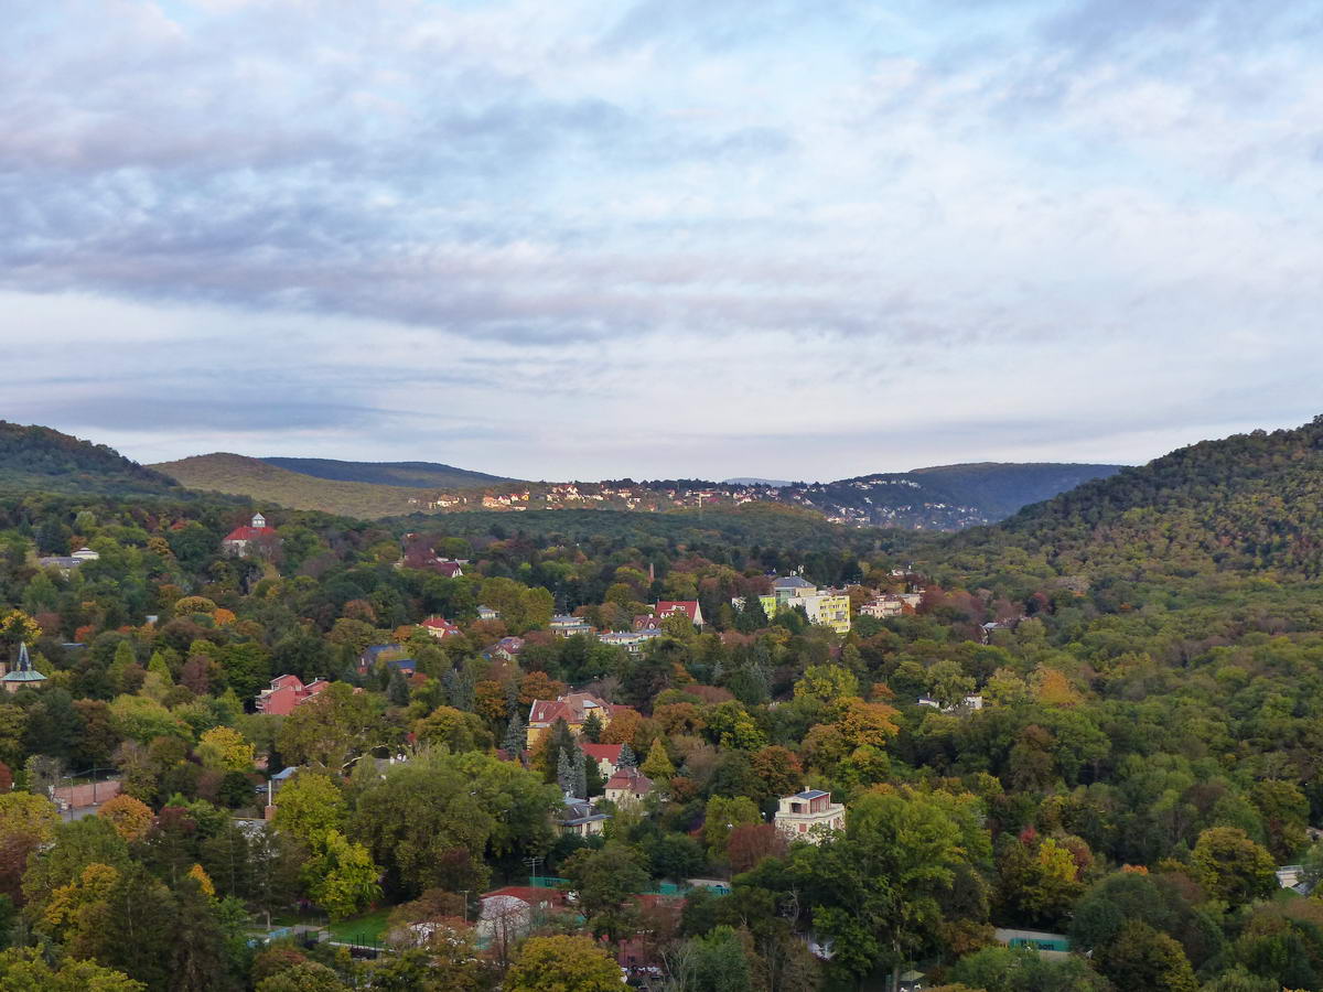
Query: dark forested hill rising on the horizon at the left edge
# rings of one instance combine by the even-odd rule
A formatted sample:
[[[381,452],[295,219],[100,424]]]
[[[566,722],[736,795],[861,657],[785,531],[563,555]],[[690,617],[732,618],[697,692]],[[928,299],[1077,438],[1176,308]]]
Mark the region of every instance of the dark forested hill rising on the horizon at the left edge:
[[[105,444],[7,421],[0,421],[0,491],[126,496],[180,492],[173,479]]]

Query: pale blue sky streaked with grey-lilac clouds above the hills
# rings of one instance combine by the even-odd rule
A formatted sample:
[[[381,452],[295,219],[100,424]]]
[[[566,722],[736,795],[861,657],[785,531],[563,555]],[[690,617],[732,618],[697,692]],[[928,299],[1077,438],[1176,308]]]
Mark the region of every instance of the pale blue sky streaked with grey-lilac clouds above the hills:
[[[0,0],[0,417],[531,479],[1323,413],[1323,0]]]

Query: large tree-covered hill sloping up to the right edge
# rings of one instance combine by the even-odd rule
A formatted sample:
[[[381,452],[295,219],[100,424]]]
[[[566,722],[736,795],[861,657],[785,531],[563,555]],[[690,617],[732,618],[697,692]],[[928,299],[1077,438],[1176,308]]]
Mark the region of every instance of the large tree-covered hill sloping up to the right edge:
[[[1179,448],[957,542],[1013,545],[1056,571],[1323,574],[1323,417]]]

